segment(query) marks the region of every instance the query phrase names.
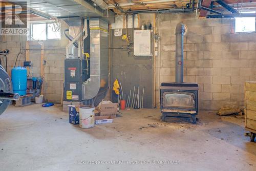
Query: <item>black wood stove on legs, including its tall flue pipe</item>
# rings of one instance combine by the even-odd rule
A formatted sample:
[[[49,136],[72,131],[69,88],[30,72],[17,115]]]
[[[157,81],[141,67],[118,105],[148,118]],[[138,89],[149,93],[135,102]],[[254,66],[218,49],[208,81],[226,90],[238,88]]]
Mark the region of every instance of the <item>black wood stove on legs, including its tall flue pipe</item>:
[[[176,26],[176,82],[163,82],[160,86],[162,120],[167,116],[190,115],[197,123],[198,84],[183,82],[183,37],[185,26]]]

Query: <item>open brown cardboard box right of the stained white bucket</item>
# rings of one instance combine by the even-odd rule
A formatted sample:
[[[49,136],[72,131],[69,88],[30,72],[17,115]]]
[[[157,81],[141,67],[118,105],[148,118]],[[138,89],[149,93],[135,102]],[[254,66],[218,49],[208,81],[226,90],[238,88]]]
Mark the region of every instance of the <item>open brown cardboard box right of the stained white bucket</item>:
[[[117,113],[117,103],[102,101],[95,109],[95,120],[114,119]]]

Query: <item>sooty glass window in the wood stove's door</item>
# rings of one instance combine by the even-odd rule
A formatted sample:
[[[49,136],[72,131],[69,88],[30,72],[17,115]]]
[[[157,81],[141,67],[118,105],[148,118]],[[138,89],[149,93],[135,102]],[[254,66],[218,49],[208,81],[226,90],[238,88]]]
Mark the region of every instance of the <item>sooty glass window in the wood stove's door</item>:
[[[188,92],[163,93],[164,108],[195,109],[195,94]]]

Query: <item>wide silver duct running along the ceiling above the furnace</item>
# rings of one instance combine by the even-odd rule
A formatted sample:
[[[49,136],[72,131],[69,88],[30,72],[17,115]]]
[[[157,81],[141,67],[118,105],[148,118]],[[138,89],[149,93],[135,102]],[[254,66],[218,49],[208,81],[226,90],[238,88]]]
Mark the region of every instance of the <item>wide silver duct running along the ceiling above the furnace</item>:
[[[17,0],[15,4],[26,6],[33,11],[48,14],[49,16],[67,18],[67,17],[109,17],[114,16],[112,11],[108,11],[108,4],[102,0]],[[96,6],[96,5],[97,6]],[[44,17],[44,16],[42,16]],[[113,17],[111,17],[112,22]]]

